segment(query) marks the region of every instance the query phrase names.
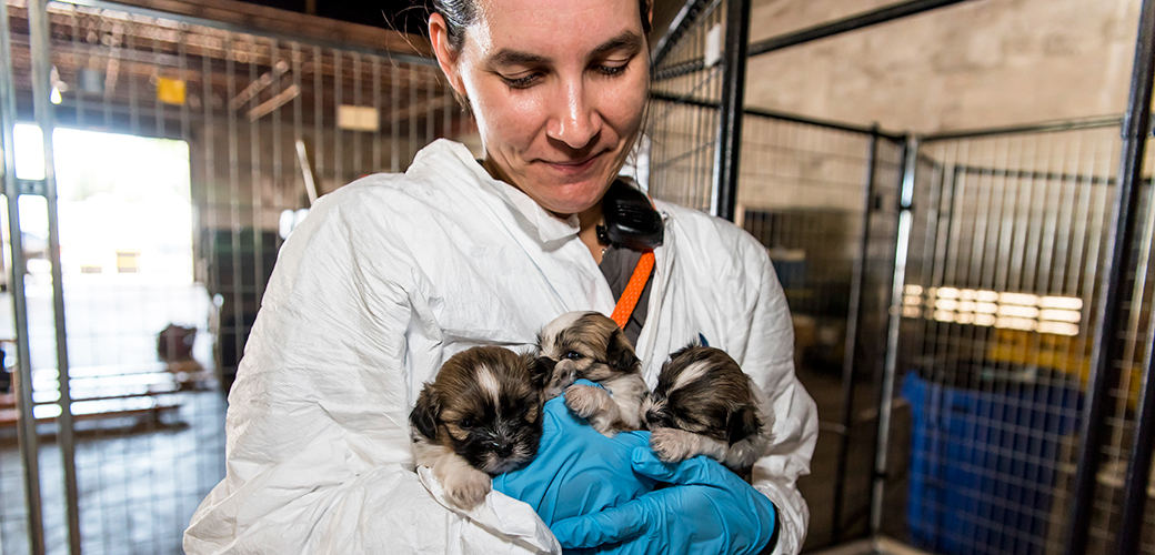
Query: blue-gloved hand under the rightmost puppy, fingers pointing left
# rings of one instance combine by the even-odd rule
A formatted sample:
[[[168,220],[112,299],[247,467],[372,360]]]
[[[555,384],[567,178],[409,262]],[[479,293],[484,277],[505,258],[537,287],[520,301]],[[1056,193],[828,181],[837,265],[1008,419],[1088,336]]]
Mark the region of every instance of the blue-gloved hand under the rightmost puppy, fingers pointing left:
[[[716,460],[668,464],[647,448],[634,450],[633,468],[671,486],[553,523],[566,553],[755,554],[777,541],[774,503]]]

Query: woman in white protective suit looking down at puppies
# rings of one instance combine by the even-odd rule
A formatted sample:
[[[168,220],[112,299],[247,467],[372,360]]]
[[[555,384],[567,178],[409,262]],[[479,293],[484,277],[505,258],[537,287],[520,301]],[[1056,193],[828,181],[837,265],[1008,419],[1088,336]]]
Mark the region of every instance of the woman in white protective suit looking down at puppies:
[[[596,226],[642,125],[650,14],[644,0],[445,0],[437,12],[438,62],[485,158],[435,142],[403,175],[327,195],[289,238],[231,391],[228,475],[193,517],[188,553],[557,549],[532,510],[500,494],[468,517],[439,504],[413,472],[407,417],[452,354],[524,347],[562,313],[613,309]],[[643,373],[653,385],[670,352],[705,337],[765,389],[776,440],[755,465],[755,495],[777,510],[775,553],[797,553],[808,513],[795,480],[818,426],[793,375],[782,288],[748,234],[657,208],[665,238],[636,338]],[[711,505],[723,524],[745,518],[728,502]],[[670,534],[694,526],[694,507],[647,507],[636,530],[605,527],[619,515],[578,528],[621,553],[662,534],[693,541]]]

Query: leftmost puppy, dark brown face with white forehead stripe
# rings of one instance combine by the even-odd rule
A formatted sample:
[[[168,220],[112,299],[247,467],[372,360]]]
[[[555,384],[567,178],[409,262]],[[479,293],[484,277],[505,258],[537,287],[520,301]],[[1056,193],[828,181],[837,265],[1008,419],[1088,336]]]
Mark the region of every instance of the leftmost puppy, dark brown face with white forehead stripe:
[[[413,457],[432,468],[452,504],[472,509],[490,493],[492,474],[537,455],[549,366],[504,347],[472,347],[422,388],[409,414]]]

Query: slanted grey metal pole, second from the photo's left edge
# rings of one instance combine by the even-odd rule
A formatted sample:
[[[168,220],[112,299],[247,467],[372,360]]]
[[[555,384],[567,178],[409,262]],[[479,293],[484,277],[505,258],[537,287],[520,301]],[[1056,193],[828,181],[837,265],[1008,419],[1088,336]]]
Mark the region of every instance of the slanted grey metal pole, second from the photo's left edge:
[[[60,268],[60,222],[57,207],[55,163],[52,135],[55,113],[49,97],[51,83],[51,38],[49,35],[47,0],[33,0],[28,6],[28,25],[32,47],[32,103],[36,122],[44,137],[44,193],[47,198],[49,258],[52,262],[52,312],[57,328],[57,381],[60,388],[60,429],[57,442],[65,474],[65,501],[68,513],[68,545],[70,553],[80,554],[80,496],[76,490],[76,442],[73,437],[72,393],[68,376],[68,337],[65,327],[64,271]]]

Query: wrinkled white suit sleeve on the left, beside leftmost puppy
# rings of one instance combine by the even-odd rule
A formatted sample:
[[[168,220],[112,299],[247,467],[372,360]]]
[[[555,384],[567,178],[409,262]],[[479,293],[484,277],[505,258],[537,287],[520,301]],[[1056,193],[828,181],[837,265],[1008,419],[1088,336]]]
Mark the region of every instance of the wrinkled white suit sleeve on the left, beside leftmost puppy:
[[[411,347],[438,344],[432,292],[411,241],[360,204],[328,195],[283,246],[229,396],[226,477],[186,553],[526,553],[413,472],[408,413],[429,376],[405,360],[435,359]]]

